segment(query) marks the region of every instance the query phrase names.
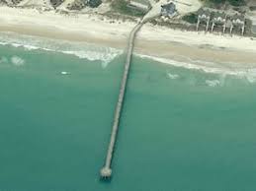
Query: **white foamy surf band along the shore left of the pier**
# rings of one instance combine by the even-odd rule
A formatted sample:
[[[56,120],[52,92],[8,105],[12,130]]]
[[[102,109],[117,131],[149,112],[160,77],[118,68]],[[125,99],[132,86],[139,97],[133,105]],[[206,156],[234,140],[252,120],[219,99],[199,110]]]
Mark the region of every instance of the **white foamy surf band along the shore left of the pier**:
[[[70,42],[24,34],[19,34],[18,36],[12,32],[1,32],[0,44],[23,47],[27,50],[43,49],[45,51],[74,55],[90,61],[101,61],[103,68],[106,68],[112,60],[123,53],[122,50],[101,47],[85,42]]]

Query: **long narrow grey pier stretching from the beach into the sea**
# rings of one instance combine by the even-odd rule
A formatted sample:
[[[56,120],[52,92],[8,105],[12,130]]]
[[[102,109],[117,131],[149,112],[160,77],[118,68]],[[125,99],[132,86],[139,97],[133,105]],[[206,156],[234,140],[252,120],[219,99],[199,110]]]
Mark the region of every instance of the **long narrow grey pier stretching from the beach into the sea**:
[[[117,134],[118,134],[118,130],[119,130],[121,112],[122,112],[124,98],[125,98],[126,89],[127,89],[128,72],[129,72],[129,66],[130,66],[130,61],[131,61],[131,56],[132,56],[132,51],[133,51],[133,46],[134,46],[134,39],[135,39],[136,33],[140,30],[140,28],[142,27],[143,24],[144,24],[144,22],[139,22],[129,34],[128,55],[127,55],[127,60],[125,63],[125,71],[124,71],[120,94],[119,94],[119,99],[118,99],[118,103],[117,103],[117,107],[116,107],[109,149],[108,149],[105,165],[101,169],[101,177],[102,178],[110,178],[111,174],[112,174],[111,163],[112,163],[112,159],[113,159],[115,144],[117,141]]]

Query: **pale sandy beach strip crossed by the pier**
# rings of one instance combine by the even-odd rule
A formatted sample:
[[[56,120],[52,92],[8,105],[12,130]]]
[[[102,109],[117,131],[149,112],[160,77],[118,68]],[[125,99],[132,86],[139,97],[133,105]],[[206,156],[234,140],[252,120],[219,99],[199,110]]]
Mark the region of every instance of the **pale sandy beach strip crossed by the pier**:
[[[127,46],[135,23],[113,21],[100,15],[61,15],[34,9],[0,7],[0,32],[18,32],[50,38],[92,42],[119,49]],[[194,60],[223,68],[254,68],[256,39],[228,34],[183,32],[146,24],[138,32],[135,51],[139,54]],[[211,66],[211,64],[209,64]]]

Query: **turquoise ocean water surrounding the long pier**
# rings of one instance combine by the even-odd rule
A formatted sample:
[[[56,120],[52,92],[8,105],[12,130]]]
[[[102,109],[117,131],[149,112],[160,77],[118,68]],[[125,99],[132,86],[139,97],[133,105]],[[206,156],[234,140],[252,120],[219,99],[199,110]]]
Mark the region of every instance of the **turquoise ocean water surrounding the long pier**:
[[[3,39],[0,190],[255,191],[253,80],[135,56],[113,179],[102,182],[123,53]]]

